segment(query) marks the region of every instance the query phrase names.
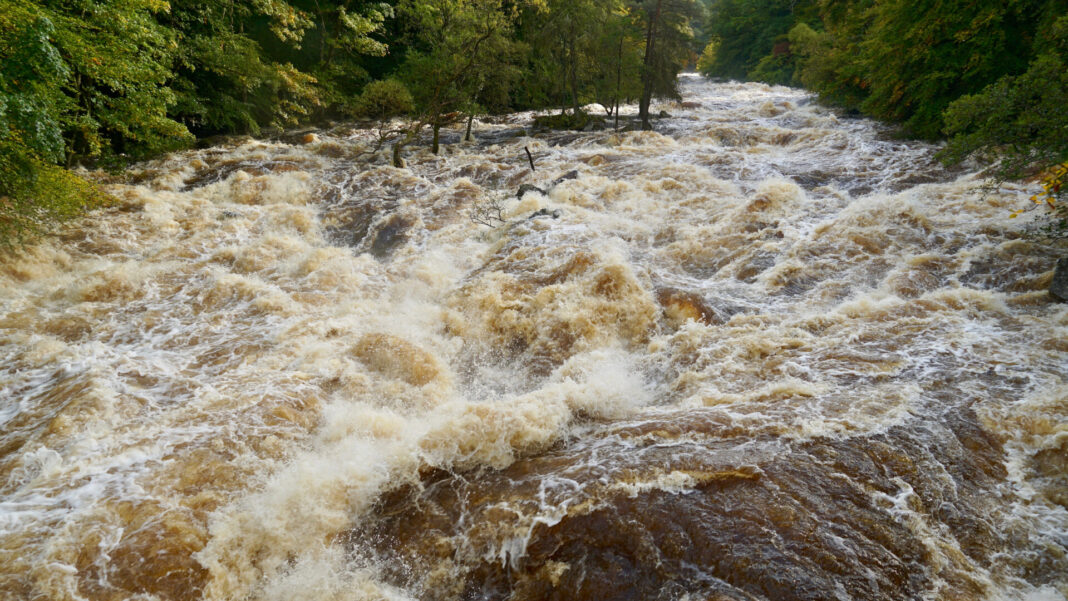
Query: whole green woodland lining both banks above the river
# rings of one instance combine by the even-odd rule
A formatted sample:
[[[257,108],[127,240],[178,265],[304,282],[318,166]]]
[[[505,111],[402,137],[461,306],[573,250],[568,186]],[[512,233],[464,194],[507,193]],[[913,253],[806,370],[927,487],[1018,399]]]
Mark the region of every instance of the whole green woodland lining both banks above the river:
[[[706,75],[948,136],[946,160],[1003,178],[1068,160],[1068,0],[0,0],[0,244],[99,200],[60,165],[198,137],[404,115],[399,149],[477,114],[630,101],[649,127],[701,48]]]

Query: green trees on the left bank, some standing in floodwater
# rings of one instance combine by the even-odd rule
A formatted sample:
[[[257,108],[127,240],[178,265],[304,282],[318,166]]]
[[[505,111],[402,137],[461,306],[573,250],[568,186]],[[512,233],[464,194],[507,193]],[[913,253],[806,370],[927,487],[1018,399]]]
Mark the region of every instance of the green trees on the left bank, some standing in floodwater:
[[[677,95],[696,0],[0,0],[0,246],[198,137]],[[437,136],[435,136],[437,145]]]

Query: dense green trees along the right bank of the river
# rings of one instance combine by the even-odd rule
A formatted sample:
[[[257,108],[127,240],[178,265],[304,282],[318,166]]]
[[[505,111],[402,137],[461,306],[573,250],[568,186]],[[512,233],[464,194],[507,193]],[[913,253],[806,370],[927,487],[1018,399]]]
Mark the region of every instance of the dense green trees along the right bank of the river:
[[[705,27],[705,75],[803,85],[948,138],[947,162],[1041,178],[1036,202],[1068,225],[1068,0],[711,0]]]

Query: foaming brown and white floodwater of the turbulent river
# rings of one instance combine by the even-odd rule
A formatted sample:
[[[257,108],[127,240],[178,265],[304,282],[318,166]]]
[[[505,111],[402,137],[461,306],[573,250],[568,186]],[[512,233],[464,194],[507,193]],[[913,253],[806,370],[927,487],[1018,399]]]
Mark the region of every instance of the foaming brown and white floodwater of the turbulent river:
[[[1031,190],[682,92],[403,170],[345,128],[176,154],[5,258],[0,597],[1063,599]]]

